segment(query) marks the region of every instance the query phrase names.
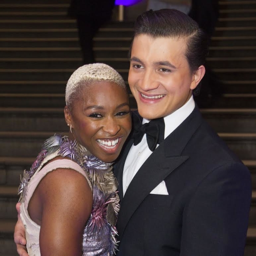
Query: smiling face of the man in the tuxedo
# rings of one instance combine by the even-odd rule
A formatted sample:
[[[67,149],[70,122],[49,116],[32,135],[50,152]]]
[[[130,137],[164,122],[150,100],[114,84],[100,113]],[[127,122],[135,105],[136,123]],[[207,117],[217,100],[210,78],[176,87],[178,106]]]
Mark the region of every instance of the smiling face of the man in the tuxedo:
[[[190,72],[186,47],[184,38],[135,37],[128,82],[142,117],[168,116],[190,99],[200,80]]]

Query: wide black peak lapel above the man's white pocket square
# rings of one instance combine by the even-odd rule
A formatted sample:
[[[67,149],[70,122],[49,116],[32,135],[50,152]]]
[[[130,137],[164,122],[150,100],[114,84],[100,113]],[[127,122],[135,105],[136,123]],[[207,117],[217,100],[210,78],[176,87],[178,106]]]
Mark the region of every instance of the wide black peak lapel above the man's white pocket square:
[[[201,125],[201,121],[201,114],[196,106],[190,116],[156,148],[136,173],[119,211],[117,226],[120,238],[131,216],[145,197],[189,158],[182,155],[182,152]]]

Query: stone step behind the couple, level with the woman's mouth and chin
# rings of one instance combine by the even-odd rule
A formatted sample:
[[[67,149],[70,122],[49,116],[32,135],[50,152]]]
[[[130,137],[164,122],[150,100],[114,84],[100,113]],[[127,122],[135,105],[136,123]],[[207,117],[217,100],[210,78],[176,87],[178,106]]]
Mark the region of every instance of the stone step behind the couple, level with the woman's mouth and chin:
[[[38,152],[40,152],[44,140],[52,136],[54,133],[62,133],[62,131],[1,131],[0,155],[13,157],[36,157]],[[67,132],[62,134],[67,134]],[[255,159],[256,133],[219,133],[219,135],[240,159]]]

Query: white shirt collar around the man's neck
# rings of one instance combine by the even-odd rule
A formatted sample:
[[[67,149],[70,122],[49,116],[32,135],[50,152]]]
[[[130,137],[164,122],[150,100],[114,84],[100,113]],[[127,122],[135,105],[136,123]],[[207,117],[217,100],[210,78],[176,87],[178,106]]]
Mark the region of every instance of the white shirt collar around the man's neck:
[[[172,114],[164,117],[165,130],[164,138],[170,135],[194,110],[195,103],[193,95],[190,99],[179,109]],[[148,123],[150,120],[143,118],[142,124]]]

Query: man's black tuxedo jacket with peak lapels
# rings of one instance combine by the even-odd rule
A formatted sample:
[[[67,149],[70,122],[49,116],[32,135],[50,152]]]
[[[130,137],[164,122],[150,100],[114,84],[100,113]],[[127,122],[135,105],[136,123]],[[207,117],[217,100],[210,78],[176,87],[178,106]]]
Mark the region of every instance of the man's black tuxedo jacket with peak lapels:
[[[123,197],[127,142],[114,166],[119,181],[118,256],[243,256],[249,170],[192,114],[141,166]],[[150,194],[165,181],[168,195]]]

